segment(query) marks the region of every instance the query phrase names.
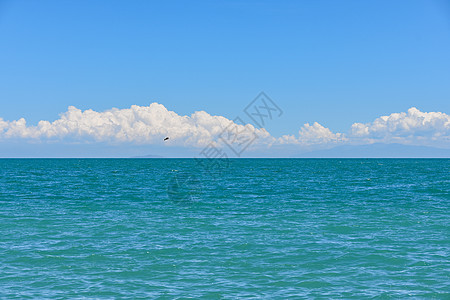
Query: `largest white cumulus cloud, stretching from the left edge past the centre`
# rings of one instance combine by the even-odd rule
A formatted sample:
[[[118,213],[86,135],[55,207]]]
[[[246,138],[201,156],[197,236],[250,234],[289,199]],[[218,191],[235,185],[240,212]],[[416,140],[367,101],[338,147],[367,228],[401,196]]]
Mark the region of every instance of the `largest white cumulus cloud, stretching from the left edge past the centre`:
[[[252,125],[236,124],[204,111],[191,116],[180,116],[163,105],[133,105],[129,109],[111,109],[105,112],[81,111],[70,106],[68,111],[54,121],[40,121],[37,126],[27,126],[25,119],[7,122],[0,119],[0,137],[27,139],[93,139],[95,141],[159,143],[166,136],[176,145],[204,146],[217,139],[225,128],[236,129],[241,137],[256,134],[268,138],[265,129]]]

